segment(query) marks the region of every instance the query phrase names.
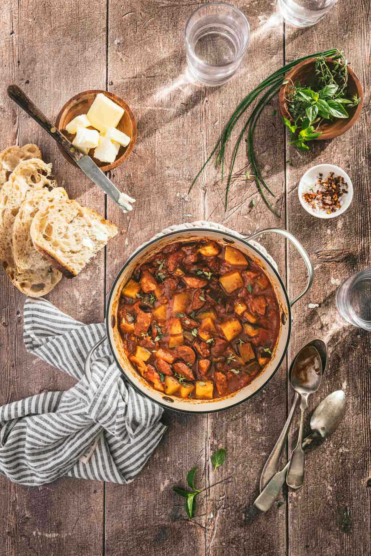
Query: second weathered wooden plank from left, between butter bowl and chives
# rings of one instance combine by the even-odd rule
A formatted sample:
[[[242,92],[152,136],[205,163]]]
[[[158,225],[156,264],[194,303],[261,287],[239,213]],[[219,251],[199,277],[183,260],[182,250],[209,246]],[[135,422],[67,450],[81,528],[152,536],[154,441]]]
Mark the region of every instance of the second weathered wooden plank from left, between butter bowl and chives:
[[[137,202],[128,216],[118,215],[108,202],[108,217],[127,232],[121,244],[107,250],[107,292],[135,247],[166,226],[197,216],[197,201],[186,193],[198,148],[194,110],[203,97],[198,88],[180,84],[182,29],[191,10],[186,4],[129,2],[123,12],[110,4],[108,88],[132,108],[138,138],[131,157],[112,176]],[[191,545],[196,554],[205,553],[205,510],[200,504],[199,524],[189,522],[172,485],[186,486],[187,471],[204,468],[206,419],[169,413],[168,420],[169,431],[141,475],[123,488],[106,487],[106,554],[120,554],[123,538],[133,556],[158,550],[181,556]]]

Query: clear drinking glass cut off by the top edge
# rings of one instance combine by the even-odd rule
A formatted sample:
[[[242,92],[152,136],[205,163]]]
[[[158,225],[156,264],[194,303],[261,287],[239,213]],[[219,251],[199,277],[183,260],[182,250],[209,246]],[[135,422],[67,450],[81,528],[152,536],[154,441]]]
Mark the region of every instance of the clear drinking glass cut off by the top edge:
[[[310,27],[325,17],[338,0],[278,0],[277,7],[286,23]]]

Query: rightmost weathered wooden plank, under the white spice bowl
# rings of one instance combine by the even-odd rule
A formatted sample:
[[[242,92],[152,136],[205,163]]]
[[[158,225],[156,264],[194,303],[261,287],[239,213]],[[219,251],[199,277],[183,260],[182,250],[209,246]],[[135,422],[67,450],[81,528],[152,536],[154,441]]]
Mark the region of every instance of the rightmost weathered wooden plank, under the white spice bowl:
[[[351,327],[340,318],[335,292],[354,271],[370,266],[370,69],[367,44],[370,33],[369,6],[362,1],[339,3],[311,29],[286,27],[288,60],[312,50],[331,46],[344,49],[355,73],[365,87],[365,103],[357,124],[333,141],[314,142],[308,155],[288,147],[287,166],[288,229],[303,242],[315,265],[315,282],[309,295],[294,308],[295,328],[290,354],[294,355],[310,336],[328,342],[329,367],[323,384],[310,399],[310,409],[327,394],[344,389],[348,410],[337,433],[318,452],[308,457],[303,487],[289,493],[290,552],[295,556],[349,556],[368,554],[370,546],[369,476],[370,453],[370,374],[369,334]],[[307,214],[299,204],[297,186],[301,175],[320,162],[336,164],[347,171],[354,185],[354,200],[344,215],[324,221]],[[323,261],[321,251],[344,252],[338,262]],[[318,252],[316,255],[316,252]],[[323,255],[323,254],[322,254]],[[289,249],[288,281],[304,285],[304,275],[296,267],[298,257]],[[309,302],[319,307],[308,309]],[[290,395],[291,397],[291,395]],[[299,414],[290,435],[290,449],[296,441]],[[309,421],[306,420],[306,429]]]

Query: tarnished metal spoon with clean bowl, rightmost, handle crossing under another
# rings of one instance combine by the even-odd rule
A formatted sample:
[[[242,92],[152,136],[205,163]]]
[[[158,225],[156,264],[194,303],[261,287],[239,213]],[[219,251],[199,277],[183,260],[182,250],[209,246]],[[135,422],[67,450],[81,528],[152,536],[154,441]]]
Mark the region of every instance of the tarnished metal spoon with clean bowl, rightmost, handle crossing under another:
[[[310,428],[313,432],[305,438],[302,447],[305,448],[316,438],[327,439],[333,434],[344,417],[346,405],[347,400],[343,390],[336,390],[321,401],[310,419]],[[256,498],[254,505],[261,512],[269,510],[277,498],[285,482],[289,465],[290,461],[286,463],[281,471],[273,475],[268,485],[265,486],[261,494]]]

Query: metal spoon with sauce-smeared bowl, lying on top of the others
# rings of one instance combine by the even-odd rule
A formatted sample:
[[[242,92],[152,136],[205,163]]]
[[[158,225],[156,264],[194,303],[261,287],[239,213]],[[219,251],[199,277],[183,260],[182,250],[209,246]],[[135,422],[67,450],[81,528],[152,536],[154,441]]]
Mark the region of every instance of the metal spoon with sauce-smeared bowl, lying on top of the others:
[[[304,481],[303,425],[305,411],[308,409],[308,396],[318,390],[322,381],[322,362],[314,346],[304,347],[295,360],[289,376],[291,386],[301,396],[301,419],[298,444],[291,454],[286,483],[291,488],[299,488]]]

